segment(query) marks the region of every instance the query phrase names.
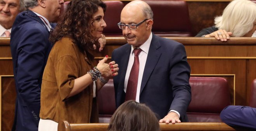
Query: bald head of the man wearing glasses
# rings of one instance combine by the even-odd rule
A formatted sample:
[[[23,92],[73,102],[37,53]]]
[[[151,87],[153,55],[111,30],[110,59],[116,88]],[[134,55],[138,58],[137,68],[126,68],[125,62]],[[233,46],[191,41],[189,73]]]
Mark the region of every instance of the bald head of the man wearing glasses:
[[[149,38],[153,25],[153,13],[149,5],[141,0],[128,3],[121,12],[120,24],[128,44],[140,47]],[[129,26],[128,26],[129,25]],[[135,29],[130,28],[135,27]]]

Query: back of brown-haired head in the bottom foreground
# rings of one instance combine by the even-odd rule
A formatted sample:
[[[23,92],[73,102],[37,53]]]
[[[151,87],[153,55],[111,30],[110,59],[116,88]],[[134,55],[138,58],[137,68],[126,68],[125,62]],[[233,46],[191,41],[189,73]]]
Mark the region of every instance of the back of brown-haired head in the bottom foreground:
[[[108,131],[160,131],[156,115],[145,104],[130,100],[116,109]]]

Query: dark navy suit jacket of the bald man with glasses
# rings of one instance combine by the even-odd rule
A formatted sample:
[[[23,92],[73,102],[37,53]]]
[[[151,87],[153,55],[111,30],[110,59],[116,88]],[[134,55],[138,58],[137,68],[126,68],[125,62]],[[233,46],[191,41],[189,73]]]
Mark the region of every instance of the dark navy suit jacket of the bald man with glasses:
[[[114,77],[117,107],[125,100],[123,89],[130,52],[129,44],[112,52],[112,60],[119,65],[118,76]],[[142,77],[140,102],[149,106],[158,119],[173,109],[180,113],[181,121],[187,121],[186,111],[191,101],[189,77],[190,66],[184,46],[153,34]]]

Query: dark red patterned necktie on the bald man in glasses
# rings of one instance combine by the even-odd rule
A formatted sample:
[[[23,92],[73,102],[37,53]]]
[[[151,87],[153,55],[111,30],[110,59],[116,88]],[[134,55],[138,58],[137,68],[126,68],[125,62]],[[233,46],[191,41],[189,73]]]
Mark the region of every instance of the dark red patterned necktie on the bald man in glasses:
[[[131,67],[130,76],[128,79],[128,84],[126,88],[125,101],[135,100],[137,93],[137,85],[138,85],[138,72],[140,67],[140,61],[138,55],[140,54],[141,49],[134,49],[134,62]]]

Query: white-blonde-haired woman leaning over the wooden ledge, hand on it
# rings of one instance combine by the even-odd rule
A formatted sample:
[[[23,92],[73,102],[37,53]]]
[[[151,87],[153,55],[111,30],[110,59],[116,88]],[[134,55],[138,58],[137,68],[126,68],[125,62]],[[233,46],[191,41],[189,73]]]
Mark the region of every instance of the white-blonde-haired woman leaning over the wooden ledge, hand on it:
[[[215,26],[202,29],[195,37],[215,37],[227,41],[229,37],[252,37],[256,30],[256,3],[250,0],[233,0],[214,19]]]

